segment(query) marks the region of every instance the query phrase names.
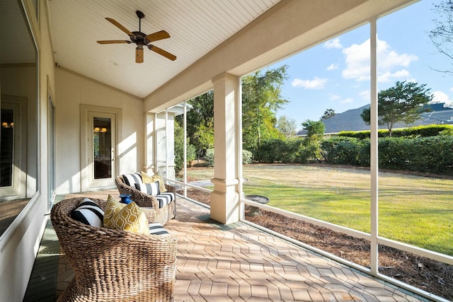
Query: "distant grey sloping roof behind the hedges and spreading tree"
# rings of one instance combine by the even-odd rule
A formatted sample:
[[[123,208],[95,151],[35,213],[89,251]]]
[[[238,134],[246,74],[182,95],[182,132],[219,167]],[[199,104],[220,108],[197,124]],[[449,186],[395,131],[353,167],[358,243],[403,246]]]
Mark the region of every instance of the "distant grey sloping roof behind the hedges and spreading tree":
[[[430,108],[430,111],[423,112],[420,115],[420,120],[417,120],[412,124],[395,124],[394,129],[425,126],[429,124],[453,124],[453,108],[446,107],[445,103],[429,104],[427,106]],[[362,113],[365,108],[369,108],[369,105],[350,109],[323,120],[322,122],[326,126],[324,134],[337,134],[342,131],[369,130],[369,125],[365,124],[362,117],[360,117],[360,113]],[[386,127],[379,126],[379,129],[386,129]],[[296,135],[303,136],[305,134],[306,130],[299,130]]]

